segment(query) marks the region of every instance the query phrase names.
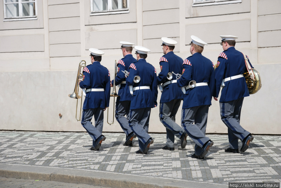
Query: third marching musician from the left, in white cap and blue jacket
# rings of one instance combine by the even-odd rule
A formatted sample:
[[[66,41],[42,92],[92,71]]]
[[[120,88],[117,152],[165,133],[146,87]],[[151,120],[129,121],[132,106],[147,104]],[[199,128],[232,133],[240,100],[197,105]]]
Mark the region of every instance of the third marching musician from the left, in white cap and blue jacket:
[[[153,143],[147,132],[150,110],[157,106],[156,70],[155,67],[145,61],[147,52],[150,52],[150,50],[142,46],[135,46],[134,48],[136,49],[137,62],[131,63],[130,74],[126,77],[126,84],[133,87],[129,126],[139,139],[140,149],[136,153],[146,154],[150,144]]]

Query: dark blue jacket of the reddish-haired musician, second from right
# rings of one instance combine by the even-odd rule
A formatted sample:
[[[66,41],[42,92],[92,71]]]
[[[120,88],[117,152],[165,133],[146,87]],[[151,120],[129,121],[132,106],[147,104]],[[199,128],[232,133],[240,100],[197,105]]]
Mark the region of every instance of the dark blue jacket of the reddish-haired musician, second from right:
[[[198,52],[184,61],[182,77],[178,79],[177,84],[179,87],[188,86],[191,80],[195,80],[196,83],[208,82],[208,86],[197,86],[186,90],[182,108],[211,105],[215,88],[214,67],[210,59]]]

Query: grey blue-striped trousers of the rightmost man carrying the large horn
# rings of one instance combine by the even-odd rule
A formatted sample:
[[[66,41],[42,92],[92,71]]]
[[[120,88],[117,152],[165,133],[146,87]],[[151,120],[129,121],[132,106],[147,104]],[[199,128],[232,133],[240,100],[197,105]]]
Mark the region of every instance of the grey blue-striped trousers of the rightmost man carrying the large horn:
[[[240,125],[240,115],[244,97],[228,102],[220,102],[221,120],[228,128],[229,148],[238,149],[238,139],[243,141],[250,132]]]

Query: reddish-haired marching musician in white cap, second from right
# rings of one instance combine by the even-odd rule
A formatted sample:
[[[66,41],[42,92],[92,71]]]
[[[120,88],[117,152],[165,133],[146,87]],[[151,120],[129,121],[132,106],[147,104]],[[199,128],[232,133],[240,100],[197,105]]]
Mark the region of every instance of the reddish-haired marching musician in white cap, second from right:
[[[188,136],[195,142],[195,153],[191,157],[204,159],[209,148],[214,144],[205,136],[208,111],[215,86],[214,67],[213,63],[201,54],[204,46],[208,44],[194,35],[191,39],[192,56],[183,62],[182,76],[177,80],[178,86],[184,87],[183,91],[186,90],[181,121]]]

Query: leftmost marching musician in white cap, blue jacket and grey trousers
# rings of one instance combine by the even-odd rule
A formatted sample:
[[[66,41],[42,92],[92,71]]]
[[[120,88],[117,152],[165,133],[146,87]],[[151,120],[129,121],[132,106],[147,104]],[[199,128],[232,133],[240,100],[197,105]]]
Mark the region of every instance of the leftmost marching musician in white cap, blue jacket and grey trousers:
[[[101,142],[106,139],[102,135],[103,111],[109,106],[110,98],[110,74],[109,70],[101,65],[99,49],[90,48],[91,64],[83,70],[83,81],[79,86],[86,89],[86,97],[83,104],[81,124],[93,139],[91,150],[99,151]],[[92,117],[95,119],[95,126],[92,125]]]

